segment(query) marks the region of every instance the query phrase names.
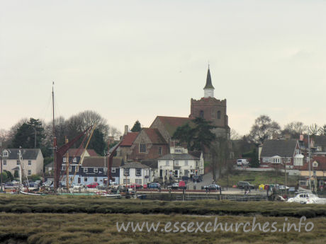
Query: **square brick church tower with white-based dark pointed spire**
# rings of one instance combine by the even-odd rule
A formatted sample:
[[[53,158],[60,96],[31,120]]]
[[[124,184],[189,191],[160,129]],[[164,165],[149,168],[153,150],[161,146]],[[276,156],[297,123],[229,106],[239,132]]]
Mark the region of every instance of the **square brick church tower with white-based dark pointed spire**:
[[[208,67],[206,86],[203,88],[204,97],[200,100],[191,98],[191,113],[189,118],[201,117],[212,122],[215,127],[216,136],[226,136],[230,138],[230,127],[228,125],[228,117],[226,113],[226,99],[218,100],[214,98],[214,86],[210,77],[210,69]]]

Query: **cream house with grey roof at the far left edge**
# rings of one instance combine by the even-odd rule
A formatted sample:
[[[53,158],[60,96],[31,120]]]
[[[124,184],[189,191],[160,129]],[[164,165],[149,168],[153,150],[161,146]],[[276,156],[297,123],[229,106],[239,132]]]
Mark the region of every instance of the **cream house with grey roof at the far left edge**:
[[[40,175],[43,173],[44,158],[40,149],[4,149],[2,151],[2,169],[18,175],[21,151],[23,175]]]

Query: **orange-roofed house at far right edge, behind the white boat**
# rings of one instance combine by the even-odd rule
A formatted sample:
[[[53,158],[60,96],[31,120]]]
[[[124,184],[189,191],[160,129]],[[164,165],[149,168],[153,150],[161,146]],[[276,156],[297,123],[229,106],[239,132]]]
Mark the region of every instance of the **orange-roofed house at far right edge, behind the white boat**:
[[[309,187],[309,179],[312,182],[313,190],[325,188],[326,184],[326,157],[325,156],[313,156],[310,163],[303,165],[300,170],[300,187]]]

